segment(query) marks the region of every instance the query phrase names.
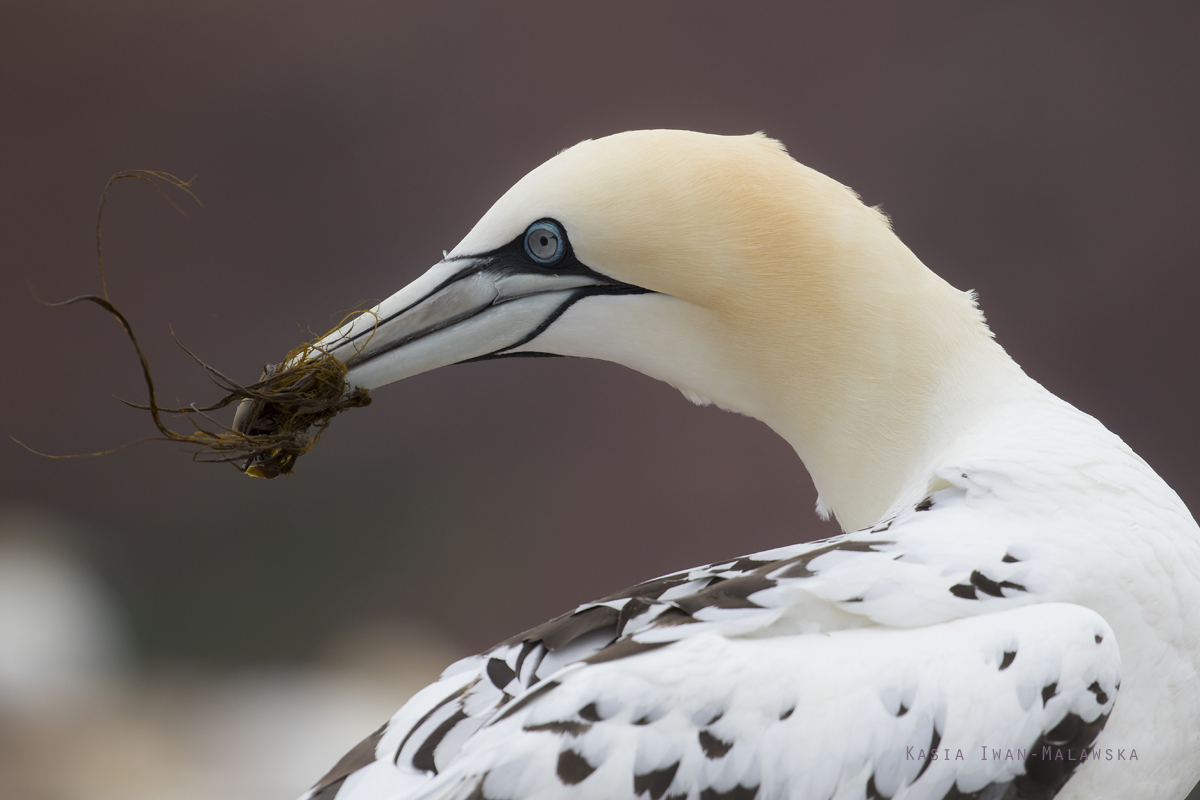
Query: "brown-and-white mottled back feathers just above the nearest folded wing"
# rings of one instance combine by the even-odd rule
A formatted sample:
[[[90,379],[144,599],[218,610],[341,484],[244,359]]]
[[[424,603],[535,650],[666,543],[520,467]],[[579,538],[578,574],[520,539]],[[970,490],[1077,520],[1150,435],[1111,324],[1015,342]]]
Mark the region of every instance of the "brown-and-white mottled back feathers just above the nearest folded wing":
[[[991,512],[996,497],[980,488],[985,479],[962,470],[950,477],[872,528],[646,581],[451,666],[331,770],[314,796],[332,798],[376,762],[388,765],[389,786],[410,787],[396,796],[421,792],[485,728],[523,720],[551,693],[568,696],[559,691],[568,678],[588,686],[611,672],[601,667],[649,662],[635,656],[654,654],[662,674],[686,672],[696,658],[720,668],[744,654],[727,654],[719,642],[752,639],[767,649],[760,657],[778,661],[794,642],[814,638],[804,634],[911,630],[1055,600],[1058,567],[1038,558],[1038,533]],[[557,721],[559,733],[569,736],[600,714],[587,704],[576,711]],[[356,782],[379,769],[362,770]]]

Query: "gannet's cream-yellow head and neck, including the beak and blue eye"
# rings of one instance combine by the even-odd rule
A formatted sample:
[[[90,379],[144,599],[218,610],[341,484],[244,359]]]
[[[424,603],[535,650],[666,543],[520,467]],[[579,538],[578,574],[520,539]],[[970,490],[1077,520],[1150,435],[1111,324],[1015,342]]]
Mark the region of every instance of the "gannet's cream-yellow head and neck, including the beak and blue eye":
[[[1010,365],[848,188],[762,134],[685,131],[551,158],[325,344],[365,389],[523,354],[626,365],[767,422],[847,529],[925,480]]]

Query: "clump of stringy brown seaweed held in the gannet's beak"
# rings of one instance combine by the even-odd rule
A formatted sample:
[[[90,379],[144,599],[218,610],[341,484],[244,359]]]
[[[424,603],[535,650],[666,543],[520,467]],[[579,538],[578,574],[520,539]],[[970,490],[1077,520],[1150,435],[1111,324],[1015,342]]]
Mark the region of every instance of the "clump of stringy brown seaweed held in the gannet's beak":
[[[149,395],[148,403],[144,405],[126,401],[121,402],[126,403],[126,405],[149,411],[155,427],[161,434],[143,439],[142,441],[180,441],[194,445],[197,450],[192,455],[193,461],[228,463],[246,475],[254,477],[271,479],[280,475],[290,475],[296,459],[317,444],[320,434],[329,427],[335,416],[347,409],[371,404],[367,390],[350,387],[346,380],[346,363],[332,355],[328,344],[320,343],[324,337],[318,337],[312,342],[295,348],[277,365],[265,366],[263,377],[258,381],[246,385],[239,384],[202,361],[196,354],[180,344],[176,338],[176,344],[209,373],[214,383],[223,389],[226,395],[216,403],[205,407],[196,404],[184,408],[161,407],[155,395],[150,363],[142,351],[142,345],[138,343],[137,336],[133,333],[133,326],[109,299],[108,284],[104,278],[104,260],[101,248],[101,221],[104,212],[104,201],[109,187],[125,178],[137,178],[150,184],[180,213],[184,210],[170,199],[162,184],[187,193],[193,200],[199,203],[199,199],[192,193],[191,181],[180,180],[169,173],[137,169],[116,173],[104,185],[104,191],[101,193],[100,199],[100,210],[96,213],[96,260],[100,266],[103,296],[80,295],[62,302],[46,305],[59,307],[72,306],[78,302],[91,302],[120,321],[142,362],[142,375]],[[211,411],[227,408],[234,403],[238,403],[238,413],[232,427],[221,425],[209,415]],[[186,417],[194,429],[191,433],[180,433],[172,429],[163,422],[162,416],[164,414],[175,414]],[[18,441],[18,444],[22,443]],[[114,450],[120,450],[120,447]],[[76,458],[80,456],[103,456],[114,450],[50,457]]]

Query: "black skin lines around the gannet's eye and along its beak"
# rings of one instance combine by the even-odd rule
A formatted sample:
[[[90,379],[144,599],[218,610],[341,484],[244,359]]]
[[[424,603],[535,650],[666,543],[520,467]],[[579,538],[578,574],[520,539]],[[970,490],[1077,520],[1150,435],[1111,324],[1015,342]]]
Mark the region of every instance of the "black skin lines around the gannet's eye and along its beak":
[[[529,237],[530,234],[538,230],[547,230],[554,235],[558,235],[559,247],[562,252],[557,254],[558,255],[557,258],[542,263],[539,261],[530,253],[529,245],[527,243],[527,237]],[[452,259],[446,259],[446,260],[452,260],[452,261],[470,260],[472,264],[461,272],[456,272],[455,275],[450,276],[449,278],[439,283],[437,287],[434,287],[427,294],[425,294],[425,296],[422,296],[420,300],[410,302],[409,305],[397,309],[396,312],[389,314],[388,317],[379,318],[374,325],[338,342],[337,347],[350,344],[358,338],[371,335],[376,329],[386,325],[389,321],[404,314],[412,308],[415,308],[416,306],[421,305],[430,297],[433,297],[439,291],[443,291],[448,287],[454,285],[455,283],[464,278],[468,278],[473,275],[478,275],[480,272],[493,275],[497,278],[504,278],[515,275],[544,275],[544,276],[558,276],[564,273],[581,275],[589,277],[596,281],[598,283],[595,285],[578,287],[576,289],[572,289],[570,295],[568,295],[568,297],[562,302],[562,305],[559,305],[559,307],[556,308],[554,312],[551,313],[545,320],[542,320],[541,324],[538,325],[538,327],[535,327],[533,331],[521,337],[512,344],[506,344],[497,350],[493,350],[492,353],[488,353],[487,355],[475,356],[473,359],[464,359],[456,363],[472,363],[474,361],[490,361],[492,359],[521,357],[521,356],[529,356],[529,357],[554,356],[557,355],[554,353],[509,353],[509,350],[511,350],[512,348],[518,348],[522,344],[528,344],[529,342],[535,339],[538,336],[542,333],[542,331],[550,327],[551,324],[554,323],[554,320],[557,320],[559,317],[566,313],[568,308],[577,303],[580,300],[583,300],[584,297],[593,297],[596,295],[653,294],[650,289],[643,289],[642,287],[635,287],[629,283],[622,283],[620,281],[610,278],[607,275],[601,275],[600,272],[596,272],[587,264],[581,261],[578,257],[575,255],[575,248],[571,247],[571,240],[570,236],[568,236],[566,234],[566,229],[558,221],[551,218],[538,219],[536,222],[527,227],[523,231],[521,231],[518,236],[516,236],[508,243],[497,247],[496,249],[488,251],[486,253],[455,255]],[[347,360],[346,363],[347,366],[350,367],[361,366],[364,363],[367,363],[368,361],[372,361],[373,359],[377,359],[378,356],[382,356],[386,353],[390,353],[391,350],[401,348],[408,344],[409,342],[413,342],[415,339],[428,336],[430,333],[433,333],[436,331],[450,327],[451,325],[470,319],[470,317],[474,317],[475,313],[479,312],[446,319],[436,326],[431,326],[422,331],[418,331],[412,336],[406,336],[401,339],[397,339],[396,342],[392,342],[388,347],[380,348],[378,350],[372,350],[361,356],[350,357]]]

